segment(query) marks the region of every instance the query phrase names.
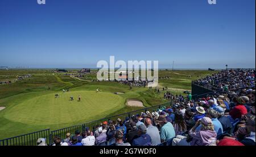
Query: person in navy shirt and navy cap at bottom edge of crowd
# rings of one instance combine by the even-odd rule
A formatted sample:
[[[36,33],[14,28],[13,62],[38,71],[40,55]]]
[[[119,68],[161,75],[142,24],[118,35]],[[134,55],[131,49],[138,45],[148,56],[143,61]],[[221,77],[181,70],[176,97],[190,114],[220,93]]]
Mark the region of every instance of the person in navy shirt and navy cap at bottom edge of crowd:
[[[138,128],[138,138],[133,140],[133,146],[150,146],[151,145],[151,137],[146,134],[147,128],[144,124],[139,125]]]

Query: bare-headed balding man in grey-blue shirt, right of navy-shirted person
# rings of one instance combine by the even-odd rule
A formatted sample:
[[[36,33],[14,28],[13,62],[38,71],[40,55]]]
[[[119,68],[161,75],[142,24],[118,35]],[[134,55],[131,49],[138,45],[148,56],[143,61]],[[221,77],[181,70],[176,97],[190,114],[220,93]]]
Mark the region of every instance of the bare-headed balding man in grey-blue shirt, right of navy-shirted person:
[[[147,126],[146,134],[151,137],[151,146],[156,146],[161,143],[160,134],[158,128],[152,125],[152,121],[150,118],[146,118],[145,125]]]

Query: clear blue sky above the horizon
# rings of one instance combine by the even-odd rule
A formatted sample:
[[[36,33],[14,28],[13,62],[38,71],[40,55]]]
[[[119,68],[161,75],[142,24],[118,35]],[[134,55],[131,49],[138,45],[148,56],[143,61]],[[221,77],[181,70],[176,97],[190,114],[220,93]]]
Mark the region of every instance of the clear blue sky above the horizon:
[[[0,1],[0,66],[255,67],[255,0]]]

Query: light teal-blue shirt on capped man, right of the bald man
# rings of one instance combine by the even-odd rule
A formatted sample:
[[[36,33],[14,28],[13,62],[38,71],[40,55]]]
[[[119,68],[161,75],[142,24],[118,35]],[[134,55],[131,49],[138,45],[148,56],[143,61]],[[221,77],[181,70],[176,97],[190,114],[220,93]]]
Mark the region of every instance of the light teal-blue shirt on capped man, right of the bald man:
[[[162,128],[160,129],[160,138],[163,141],[168,141],[169,139],[174,138],[175,136],[176,135],[174,126],[172,126],[170,122],[164,124],[164,126],[162,126]]]

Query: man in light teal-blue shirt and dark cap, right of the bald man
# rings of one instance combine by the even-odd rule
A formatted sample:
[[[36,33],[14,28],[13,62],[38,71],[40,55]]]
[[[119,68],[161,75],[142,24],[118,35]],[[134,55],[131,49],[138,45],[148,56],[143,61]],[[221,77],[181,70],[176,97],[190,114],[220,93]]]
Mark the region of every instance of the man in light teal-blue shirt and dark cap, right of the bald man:
[[[167,122],[166,117],[161,115],[156,122],[160,125],[161,142],[168,141],[175,137],[174,126],[170,122]]]

